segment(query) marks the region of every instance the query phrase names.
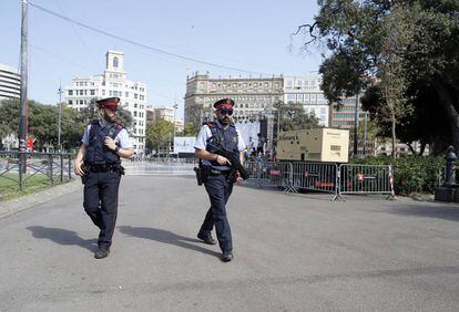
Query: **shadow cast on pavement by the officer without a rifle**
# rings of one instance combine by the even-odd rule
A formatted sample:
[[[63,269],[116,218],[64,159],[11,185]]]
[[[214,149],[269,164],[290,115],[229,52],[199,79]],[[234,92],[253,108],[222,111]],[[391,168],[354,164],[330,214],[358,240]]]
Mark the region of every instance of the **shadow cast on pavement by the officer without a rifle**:
[[[74,231],[58,228],[45,228],[41,226],[28,227],[27,229],[32,232],[34,238],[45,238],[59,245],[75,245],[92,252],[98,249],[96,239],[82,239]]]

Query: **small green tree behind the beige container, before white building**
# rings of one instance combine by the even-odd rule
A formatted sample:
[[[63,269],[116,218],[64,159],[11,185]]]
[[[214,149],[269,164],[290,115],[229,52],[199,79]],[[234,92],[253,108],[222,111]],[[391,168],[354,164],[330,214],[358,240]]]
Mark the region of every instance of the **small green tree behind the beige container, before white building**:
[[[285,104],[282,101],[274,103],[276,117],[274,118],[274,137],[279,131],[309,129],[319,126],[318,119],[314,115],[306,114],[303,104]],[[277,122],[278,126],[277,126]]]

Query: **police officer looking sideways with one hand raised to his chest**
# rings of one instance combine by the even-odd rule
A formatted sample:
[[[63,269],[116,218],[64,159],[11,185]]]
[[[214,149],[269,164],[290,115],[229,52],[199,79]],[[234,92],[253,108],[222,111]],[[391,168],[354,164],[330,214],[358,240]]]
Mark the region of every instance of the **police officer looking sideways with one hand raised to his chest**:
[[[84,184],[84,211],[100,229],[95,259],[109,256],[118,214],[121,159],[133,155],[128,132],[116,123],[119,97],[95,102],[99,119],[88,125],[76,155],[74,171]]]

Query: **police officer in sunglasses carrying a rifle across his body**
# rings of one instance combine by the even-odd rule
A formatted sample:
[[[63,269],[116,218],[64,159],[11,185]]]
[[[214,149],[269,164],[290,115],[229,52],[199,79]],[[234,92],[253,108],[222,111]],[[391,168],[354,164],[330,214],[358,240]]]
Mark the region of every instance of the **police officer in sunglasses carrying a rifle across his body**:
[[[195,144],[195,156],[202,159],[203,171],[206,173],[204,180],[205,189],[211,199],[204,222],[197,233],[197,238],[205,243],[215,245],[212,238],[212,229],[215,225],[216,237],[220,248],[222,249],[222,260],[227,262],[233,259],[233,242],[231,236],[230,222],[226,217],[226,202],[233,190],[234,180],[230,177],[230,160],[213,149],[207,144],[211,137],[218,137],[225,148],[237,153],[242,159],[242,150],[245,148],[244,139],[232,122],[234,101],[223,98],[214,103],[215,115],[217,121],[205,123],[197,135]],[[237,183],[242,181],[237,177]]]

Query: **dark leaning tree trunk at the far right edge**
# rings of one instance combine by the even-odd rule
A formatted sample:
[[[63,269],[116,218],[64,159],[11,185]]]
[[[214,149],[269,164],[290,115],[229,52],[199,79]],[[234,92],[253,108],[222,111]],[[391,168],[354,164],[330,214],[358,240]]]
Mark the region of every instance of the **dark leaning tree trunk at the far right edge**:
[[[449,128],[451,131],[452,146],[456,153],[459,150],[459,113],[456,111],[453,97],[443,83],[434,80],[434,87],[437,90],[440,103],[447,112]]]

